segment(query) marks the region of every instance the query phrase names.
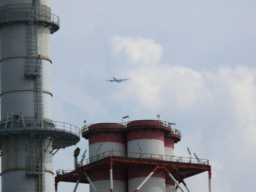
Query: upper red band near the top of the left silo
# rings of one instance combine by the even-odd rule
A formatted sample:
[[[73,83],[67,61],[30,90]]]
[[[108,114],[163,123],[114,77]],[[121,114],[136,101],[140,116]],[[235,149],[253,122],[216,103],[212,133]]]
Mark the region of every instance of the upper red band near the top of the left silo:
[[[118,142],[126,143],[125,136],[122,132],[97,132],[89,135],[89,145],[98,142]]]

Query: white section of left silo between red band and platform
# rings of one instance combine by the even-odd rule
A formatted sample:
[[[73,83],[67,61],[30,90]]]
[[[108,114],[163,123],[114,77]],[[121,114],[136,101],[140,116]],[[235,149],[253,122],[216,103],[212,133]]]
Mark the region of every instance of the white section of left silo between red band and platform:
[[[125,144],[119,142],[103,142],[102,146],[100,147],[101,142],[93,143],[89,145],[89,157],[96,156],[97,154],[106,152],[106,151],[126,151]],[[100,147],[100,149],[99,149]],[[99,149],[98,153],[97,150]],[[118,156],[118,154],[116,154]]]

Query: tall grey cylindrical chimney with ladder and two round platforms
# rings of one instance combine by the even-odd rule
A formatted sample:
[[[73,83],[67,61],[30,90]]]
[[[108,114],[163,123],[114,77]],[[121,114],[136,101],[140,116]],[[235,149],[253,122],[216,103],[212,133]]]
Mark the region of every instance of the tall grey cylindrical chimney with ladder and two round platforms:
[[[52,192],[53,155],[76,144],[78,127],[52,120],[50,0],[1,0],[2,192]]]

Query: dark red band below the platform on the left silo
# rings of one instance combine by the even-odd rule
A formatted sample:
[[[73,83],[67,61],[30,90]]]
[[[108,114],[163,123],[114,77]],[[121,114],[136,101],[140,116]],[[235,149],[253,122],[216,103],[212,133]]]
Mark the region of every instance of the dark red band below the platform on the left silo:
[[[93,169],[89,173],[89,178],[92,181],[110,180],[110,169]],[[122,168],[113,169],[113,180],[125,181],[125,171]]]

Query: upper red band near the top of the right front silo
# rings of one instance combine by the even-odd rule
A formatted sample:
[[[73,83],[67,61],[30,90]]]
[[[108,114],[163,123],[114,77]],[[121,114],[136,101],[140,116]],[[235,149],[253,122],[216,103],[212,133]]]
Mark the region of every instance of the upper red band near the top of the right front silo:
[[[127,132],[127,142],[137,139],[157,139],[164,141],[164,132],[154,129],[130,130]]]

